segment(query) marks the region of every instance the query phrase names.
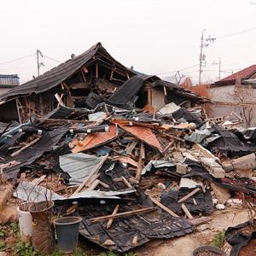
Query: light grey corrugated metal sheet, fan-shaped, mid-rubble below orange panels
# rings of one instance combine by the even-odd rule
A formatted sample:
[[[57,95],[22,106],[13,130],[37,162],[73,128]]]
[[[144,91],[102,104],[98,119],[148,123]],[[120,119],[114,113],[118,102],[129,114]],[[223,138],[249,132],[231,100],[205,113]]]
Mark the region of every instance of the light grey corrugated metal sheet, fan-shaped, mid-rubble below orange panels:
[[[90,172],[95,171],[96,166],[98,166],[103,159],[104,157],[84,153],[64,154],[59,157],[62,171],[67,172],[70,176],[70,185],[83,183],[84,178],[89,176]],[[102,164],[103,163],[104,162],[102,162]],[[98,166],[98,169],[100,167],[101,166]]]

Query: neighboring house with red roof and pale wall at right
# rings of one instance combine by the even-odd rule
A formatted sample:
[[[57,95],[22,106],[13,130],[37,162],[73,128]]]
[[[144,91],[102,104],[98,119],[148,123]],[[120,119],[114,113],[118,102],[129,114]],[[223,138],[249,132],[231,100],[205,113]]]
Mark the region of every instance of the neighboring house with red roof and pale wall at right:
[[[244,68],[210,85],[211,117],[227,116],[235,112],[242,119],[250,115],[250,124],[256,125],[256,65]],[[245,107],[247,104],[248,107]],[[255,104],[256,106],[256,104]],[[246,120],[245,120],[246,122]],[[248,125],[248,124],[247,124]]]

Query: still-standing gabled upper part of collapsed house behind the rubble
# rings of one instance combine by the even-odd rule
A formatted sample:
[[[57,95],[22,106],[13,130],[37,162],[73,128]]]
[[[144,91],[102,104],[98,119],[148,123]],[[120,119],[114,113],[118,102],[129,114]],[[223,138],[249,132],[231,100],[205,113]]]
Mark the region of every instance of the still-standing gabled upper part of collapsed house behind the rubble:
[[[26,121],[58,106],[96,108],[100,102],[122,108],[160,110],[169,102],[190,108],[202,98],[156,76],[137,74],[113,59],[101,43],[0,96],[0,119]]]

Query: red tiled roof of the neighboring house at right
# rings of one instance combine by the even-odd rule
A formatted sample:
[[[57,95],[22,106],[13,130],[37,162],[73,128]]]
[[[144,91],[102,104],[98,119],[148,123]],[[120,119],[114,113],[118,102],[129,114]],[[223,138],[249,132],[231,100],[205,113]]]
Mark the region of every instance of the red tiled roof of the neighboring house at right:
[[[215,82],[214,85],[231,85],[236,84],[236,79],[255,79],[256,78],[256,65],[246,67],[236,73],[232,73],[230,76],[220,79]]]

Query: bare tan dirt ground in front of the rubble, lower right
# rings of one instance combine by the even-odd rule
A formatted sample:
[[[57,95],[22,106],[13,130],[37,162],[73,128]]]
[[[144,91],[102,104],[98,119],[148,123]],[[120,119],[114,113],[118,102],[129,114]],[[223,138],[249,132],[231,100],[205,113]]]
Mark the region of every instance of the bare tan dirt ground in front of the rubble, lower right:
[[[149,241],[146,245],[133,250],[138,256],[190,256],[191,252],[201,245],[212,241],[218,231],[226,230],[247,221],[247,211],[238,208],[227,208],[224,211],[215,211],[210,216],[212,222],[199,226],[193,234],[170,240]],[[229,255],[230,247],[225,244],[224,250]]]

